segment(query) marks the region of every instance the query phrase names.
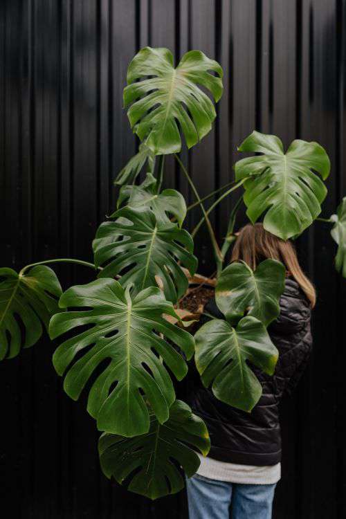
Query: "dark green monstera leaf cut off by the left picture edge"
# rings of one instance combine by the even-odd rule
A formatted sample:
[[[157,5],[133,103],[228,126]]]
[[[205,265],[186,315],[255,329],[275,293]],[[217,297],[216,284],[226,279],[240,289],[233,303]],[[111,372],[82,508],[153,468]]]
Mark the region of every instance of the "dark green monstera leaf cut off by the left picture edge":
[[[0,268],[0,359],[37,343],[62,293],[54,271],[44,265],[24,273]]]

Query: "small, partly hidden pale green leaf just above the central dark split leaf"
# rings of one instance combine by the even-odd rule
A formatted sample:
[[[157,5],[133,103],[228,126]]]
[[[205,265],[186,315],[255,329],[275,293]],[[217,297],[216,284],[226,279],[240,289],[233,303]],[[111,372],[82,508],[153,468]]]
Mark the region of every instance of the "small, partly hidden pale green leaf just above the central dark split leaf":
[[[156,220],[167,224],[172,215],[183,225],[186,216],[186,203],[183,195],[174,189],[165,189],[156,194],[156,179],[150,173],[140,185],[124,185],[120,189],[118,197],[118,207],[127,205],[132,208],[148,207],[156,216]]]

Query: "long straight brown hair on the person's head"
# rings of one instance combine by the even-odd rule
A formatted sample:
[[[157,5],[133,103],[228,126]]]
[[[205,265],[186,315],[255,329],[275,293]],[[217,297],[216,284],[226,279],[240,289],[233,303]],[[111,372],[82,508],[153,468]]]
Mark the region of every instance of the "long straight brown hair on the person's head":
[[[286,266],[286,271],[295,281],[310,301],[311,307],[316,303],[316,292],[300,264],[293,244],[284,242],[264,229],[262,224],[248,224],[238,233],[233,247],[231,262],[243,260],[255,270],[257,264],[271,258],[279,260]]]

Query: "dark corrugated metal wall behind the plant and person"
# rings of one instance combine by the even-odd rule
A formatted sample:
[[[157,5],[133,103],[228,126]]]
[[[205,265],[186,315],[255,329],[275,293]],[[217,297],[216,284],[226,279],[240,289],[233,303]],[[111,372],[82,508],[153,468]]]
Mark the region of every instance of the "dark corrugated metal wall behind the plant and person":
[[[115,208],[113,178],[135,151],[122,88],[129,60],[147,44],[176,56],[198,48],[224,67],[215,129],[190,153],[201,195],[230,181],[236,146],[256,128],[284,145],[300,137],[327,149],[329,217],[346,194],[345,9],[341,0],[1,0],[1,264],[92,260],[95,229]],[[173,161],[165,183],[189,197]],[[214,213],[219,237],[228,210]],[[204,229],[196,248],[199,271],[210,273]],[[298,248],[318,290],[315,350],[282,407],[274,518],[342,518],[346,282],[334,271],[327,224],[317,222]],[[65,288],[93,276],[56,271]],[[54,348],[45,338],[0,366],[1,516],[186,518],[184,493],[152,503],[102,475],[95,424],[84,401],[64,394]]]

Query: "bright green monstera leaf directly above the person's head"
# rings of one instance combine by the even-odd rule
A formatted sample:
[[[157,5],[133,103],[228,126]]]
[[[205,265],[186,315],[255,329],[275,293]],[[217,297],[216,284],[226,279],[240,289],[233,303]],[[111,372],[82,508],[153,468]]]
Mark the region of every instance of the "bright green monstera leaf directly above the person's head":
[[[320,214],[325,199],[330,161],[318,143],[293,140],[286,154],[273,135],[254,131],[239,147],[240,152],[262,155],[243,158],[235,165],[237,181],[247,176],[244,188],[246,214],[253,223],[265,212],[264,228],[282,239],[302,233]]]

